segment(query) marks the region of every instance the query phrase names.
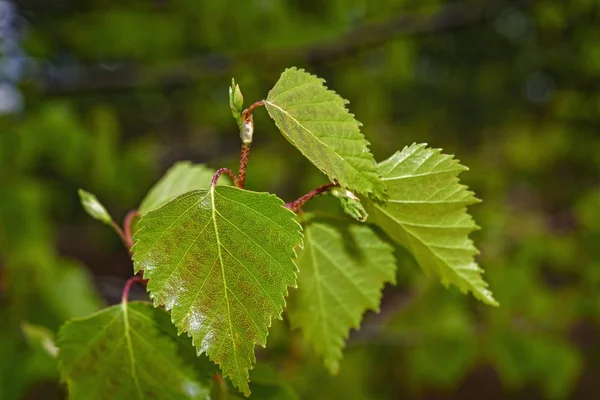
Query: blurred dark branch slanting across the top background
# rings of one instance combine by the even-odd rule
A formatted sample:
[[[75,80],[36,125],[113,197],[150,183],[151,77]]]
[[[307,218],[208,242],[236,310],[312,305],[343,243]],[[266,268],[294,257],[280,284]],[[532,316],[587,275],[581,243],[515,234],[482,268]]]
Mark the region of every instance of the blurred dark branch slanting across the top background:
[[[140,67],[128,62],[112,63],[110,67],[94,65],[52,67],[42,77],[49,94],[85,91],[122,91],[140,87],[185,87],[200,79],[229,75],[238,64],[265,64],[275,59],[277,65],[304,60],[318,65],[332,59],[353,55],[360,50],[382,45],[402,35],[423,35],[448,32],[493,18],[502,7],[498,3],[474,5],[458,3],[443,7],[428,17],[402,14],[386,22],[360,26],[329,42],[275,52],[261,51],[235,55],[208,54],[163,67]],[[273,57],[276,55],[276,57]],[[267,61],[268,63],[268,61]],[[67,77],[67,79],[61,79]],[[74,78],[75,77],[75,78]]]

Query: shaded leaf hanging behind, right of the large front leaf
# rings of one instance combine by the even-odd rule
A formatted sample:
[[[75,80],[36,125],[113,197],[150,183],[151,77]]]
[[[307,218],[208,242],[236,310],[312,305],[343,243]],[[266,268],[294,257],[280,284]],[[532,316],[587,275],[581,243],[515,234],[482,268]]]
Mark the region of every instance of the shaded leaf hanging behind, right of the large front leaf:
[[[298,258],[298,291],[288,307],[292,327],[339,370],[345,339],[367,310],[379,310],[381,290],[395,283],[393,247],[368,225],[309,222]]]

